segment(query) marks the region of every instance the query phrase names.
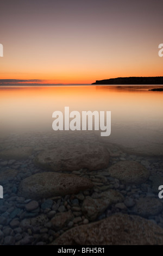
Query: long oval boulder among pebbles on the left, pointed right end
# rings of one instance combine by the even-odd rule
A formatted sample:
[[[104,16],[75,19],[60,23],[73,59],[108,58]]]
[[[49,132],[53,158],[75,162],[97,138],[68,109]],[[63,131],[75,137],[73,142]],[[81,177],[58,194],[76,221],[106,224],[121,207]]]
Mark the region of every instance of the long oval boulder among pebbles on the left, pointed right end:
[[[34,174],[22,180],[18,194],[32,199],[52,198],[76,194],[91,187],[93,184],[89,179],[77,175],[45,172]]]

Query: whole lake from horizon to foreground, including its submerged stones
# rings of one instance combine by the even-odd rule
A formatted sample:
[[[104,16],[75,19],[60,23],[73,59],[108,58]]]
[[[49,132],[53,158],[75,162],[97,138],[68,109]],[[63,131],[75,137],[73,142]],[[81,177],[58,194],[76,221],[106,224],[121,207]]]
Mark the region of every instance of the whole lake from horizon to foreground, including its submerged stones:
[[[114,235],[120,245],[163,243],[162,92],[153,87],[0,88],[0,245],[62,245],[73,227],[72,245],[109,245]],[[54,131],[52,113],[65,106],[111,111],[111,135]]]

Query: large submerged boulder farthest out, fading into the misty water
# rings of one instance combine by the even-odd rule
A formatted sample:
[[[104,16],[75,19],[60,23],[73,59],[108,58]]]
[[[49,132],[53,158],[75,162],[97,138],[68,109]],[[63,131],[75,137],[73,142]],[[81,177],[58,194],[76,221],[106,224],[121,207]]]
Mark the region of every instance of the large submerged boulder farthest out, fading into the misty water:
[[[55,172],[82,168],[97,170],[108,167],[109,153],[102,145],[65,145],[41,152],[34,162],[39,167]]]

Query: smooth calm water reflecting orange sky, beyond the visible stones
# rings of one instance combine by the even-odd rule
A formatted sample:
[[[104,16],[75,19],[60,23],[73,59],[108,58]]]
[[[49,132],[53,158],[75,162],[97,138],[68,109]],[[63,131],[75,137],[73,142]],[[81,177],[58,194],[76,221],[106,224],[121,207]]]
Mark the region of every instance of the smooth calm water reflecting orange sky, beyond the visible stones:
[[[161,86],[1,87],[1,137],[52,130],[52,113],[111,111],[111,135],[104,142],[140,153],[163,154],[163,92]],[[76,131],[77,132],[77,131]]]

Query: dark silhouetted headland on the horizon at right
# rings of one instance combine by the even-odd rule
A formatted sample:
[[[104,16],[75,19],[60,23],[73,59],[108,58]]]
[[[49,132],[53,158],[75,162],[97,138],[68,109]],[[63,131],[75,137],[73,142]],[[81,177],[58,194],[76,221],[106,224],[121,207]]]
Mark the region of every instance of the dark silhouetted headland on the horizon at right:
[[[141,85],[151,85],[151,84],[160,84],[163,85],[163,76],[155,76],[155,77],[117,77],[110,78],[105,80],[97,80],[92,84],[141,84]]]

